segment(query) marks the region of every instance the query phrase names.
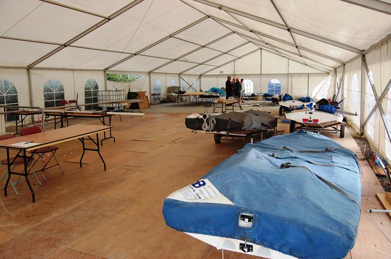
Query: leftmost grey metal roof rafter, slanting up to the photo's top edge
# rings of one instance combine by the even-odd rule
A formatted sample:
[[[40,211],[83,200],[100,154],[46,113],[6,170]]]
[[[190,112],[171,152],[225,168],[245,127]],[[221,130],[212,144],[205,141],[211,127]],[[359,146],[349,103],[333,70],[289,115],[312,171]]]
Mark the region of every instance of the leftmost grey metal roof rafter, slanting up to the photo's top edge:
[[[71,40],[68,40],[64,43],[63,46],[59,46],[58,48],[50,51],[48,54],[44,55],[43,57],[41,57],[40,59],[34,61],[33,63],[31,63],[30,65],[28,65],[29,68],[32,68],[34,66],[36,66],[37,64],[41,63],[43,60],[46,60],[47,58],[53,56],[54,54],[56,54],[57,52],[59,52],[60,50],[64,49],[66,46],[72,44],[73,42],[77,41],[77,40],[80,40],[81,38],[83,38],[84,36],[86,36],[87,34],[89,34],[90,32],[96,30],[97,28],[99,28],[100,26],[102,26],[103,24],[109,22],[110,20],[116,18],[117,16],[119,16],[120,14],[128,11],[130,8],[132,8],[133,6],[139,4],[140,2],[142,2],[143,0],[134,0],[132,1],[130,4],[126,5],[125,7],[122,7],[120,10],[116,11],[115,13],[113,13],[112,15],[110,15],[108,18],[104,19],[104,20],[101,20],[99,21],[98,23],[96,23],[95,25],[89,27],[87,30],[85,30],[84,32],[80,33],[79,35],[77,35],[76,37],[72,38]]]

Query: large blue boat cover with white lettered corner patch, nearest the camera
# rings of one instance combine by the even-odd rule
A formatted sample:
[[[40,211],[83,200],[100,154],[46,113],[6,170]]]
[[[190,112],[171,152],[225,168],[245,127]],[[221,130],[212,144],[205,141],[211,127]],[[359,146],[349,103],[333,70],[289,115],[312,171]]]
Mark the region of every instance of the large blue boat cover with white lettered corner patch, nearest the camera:
[[[182,232],[247,240],[297,258],[344,258],[357,235],[360,174],[352,151],[299,131],[246,144],[166,198],[163,215]],[[254,215],[251,228],[238,226],[241,213]]]

